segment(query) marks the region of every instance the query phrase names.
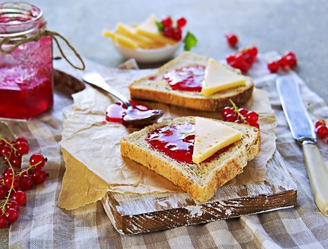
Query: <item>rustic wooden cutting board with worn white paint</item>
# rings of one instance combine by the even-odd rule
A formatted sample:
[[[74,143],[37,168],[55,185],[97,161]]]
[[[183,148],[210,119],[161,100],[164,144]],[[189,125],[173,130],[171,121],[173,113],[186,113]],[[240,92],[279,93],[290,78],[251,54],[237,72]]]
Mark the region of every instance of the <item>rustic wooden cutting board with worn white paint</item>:
[[[136,234],[291,208],[296,197],[297,186],[275,151],[267,165],[266,181],[219,187],[206,203],[196,203],[186,193],[107,192],[102,204],[118,232]]]

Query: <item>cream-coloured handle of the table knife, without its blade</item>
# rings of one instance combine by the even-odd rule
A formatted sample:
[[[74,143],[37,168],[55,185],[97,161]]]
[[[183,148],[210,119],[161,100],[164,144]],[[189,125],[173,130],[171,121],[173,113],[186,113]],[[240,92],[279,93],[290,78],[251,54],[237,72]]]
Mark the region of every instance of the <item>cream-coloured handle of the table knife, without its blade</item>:
[[[328,216],[328,169],[316,144],[302,145],[311,190],[319,210]]]

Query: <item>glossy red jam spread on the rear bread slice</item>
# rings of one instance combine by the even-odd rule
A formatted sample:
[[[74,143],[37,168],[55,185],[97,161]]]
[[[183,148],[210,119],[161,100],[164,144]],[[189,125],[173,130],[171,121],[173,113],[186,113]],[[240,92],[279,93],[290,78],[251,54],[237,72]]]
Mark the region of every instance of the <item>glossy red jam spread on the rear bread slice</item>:
[[[173,90],[201,92],[204,75],[205,66],[183,66],[168,71],[163,79]]]

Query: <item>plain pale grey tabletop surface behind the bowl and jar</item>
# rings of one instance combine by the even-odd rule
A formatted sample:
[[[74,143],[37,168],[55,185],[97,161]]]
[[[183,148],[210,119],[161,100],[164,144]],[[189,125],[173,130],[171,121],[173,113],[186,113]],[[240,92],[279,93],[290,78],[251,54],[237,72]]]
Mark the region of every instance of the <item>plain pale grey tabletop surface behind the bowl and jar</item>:
[[[150,14],[188,19],[188,30],[199,39],[195,53],[223,59],[231,50],[225,33],[239,36],[241,46],[255,44],[259,51],[293,50],[298,55],[296,71],[328,102],[328,1],[146,1],[146,0],[30,0],[44,10],[48,29],[68,38],[86,58],[106,66],[124,59],[102,30],[116,22],[135,24]],[[145,66],[143,66],[145,67]],[[8,246],[8,230],[0,232],[0,248]]]

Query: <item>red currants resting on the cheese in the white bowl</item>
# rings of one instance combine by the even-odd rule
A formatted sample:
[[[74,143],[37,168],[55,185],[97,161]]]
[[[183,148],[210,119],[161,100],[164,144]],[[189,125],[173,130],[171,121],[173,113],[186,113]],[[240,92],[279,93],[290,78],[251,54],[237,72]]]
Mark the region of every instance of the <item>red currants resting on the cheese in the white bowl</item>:
[[[180,41],[182,39],[182,28],[185,24],[187,24],[187,20],[184,17],[181,17],[176,20],[176,27],[174,27],[172,18],[165,17],[159,25],[157,25],[165,37],[170,37],[176,41]]]

